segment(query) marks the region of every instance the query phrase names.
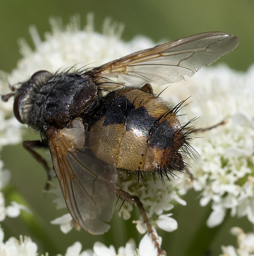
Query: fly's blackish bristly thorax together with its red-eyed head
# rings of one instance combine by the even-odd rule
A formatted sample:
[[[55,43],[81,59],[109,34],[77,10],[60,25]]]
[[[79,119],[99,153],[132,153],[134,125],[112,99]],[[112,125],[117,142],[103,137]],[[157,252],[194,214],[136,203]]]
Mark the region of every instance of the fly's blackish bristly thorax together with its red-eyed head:
[[[17,119],[33,128],[64,128],[91,111],[96,95],[97,86],[89,75],[38,71],[17,89],[14,109]]]

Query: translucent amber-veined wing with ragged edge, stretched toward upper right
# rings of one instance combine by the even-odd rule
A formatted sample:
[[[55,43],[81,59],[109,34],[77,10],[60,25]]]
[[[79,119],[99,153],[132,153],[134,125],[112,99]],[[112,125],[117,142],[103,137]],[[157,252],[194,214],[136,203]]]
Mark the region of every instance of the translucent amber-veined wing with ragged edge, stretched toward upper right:
[[[126,86],[177,83],[234,50],[237,45],[237,36],[223,32],[201,33],[132,53],[92,71],[94,77],[101,79],[100,82],[106,78],[104,87],[110,86],[111,77],[116,77],[118,83]]]

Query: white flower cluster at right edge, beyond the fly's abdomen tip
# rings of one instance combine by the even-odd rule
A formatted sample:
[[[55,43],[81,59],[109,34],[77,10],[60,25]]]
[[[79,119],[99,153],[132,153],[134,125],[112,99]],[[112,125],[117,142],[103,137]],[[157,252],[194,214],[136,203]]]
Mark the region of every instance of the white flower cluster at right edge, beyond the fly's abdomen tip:
[[[191,163],[190,171],[193,188],[202,191],[200,204],[212,201],[209,227],[219,225],[227,209],[232,216],[247,216],[254,223],[253,81],[254,66],[246,73],[218,66],[204,68],[169,88],[178,100],[192,94],[193,102],[183,111],[186,117],[199,117],[196,127],[207,128],[225,120],[224,125],[194,134],[201,137],[193,143],[200,157]]]

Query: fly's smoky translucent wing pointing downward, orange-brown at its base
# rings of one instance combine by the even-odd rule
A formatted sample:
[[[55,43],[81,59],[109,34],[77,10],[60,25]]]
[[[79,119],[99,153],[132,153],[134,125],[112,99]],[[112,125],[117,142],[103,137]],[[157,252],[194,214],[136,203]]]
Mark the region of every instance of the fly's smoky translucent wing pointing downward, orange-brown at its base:
[[[49,149],[67,208],[74,221],[92,234],[109,230],[105,223],[114,210],[116,168],[84,147],[86,133],[80,118],[70,128],[47,130]]]

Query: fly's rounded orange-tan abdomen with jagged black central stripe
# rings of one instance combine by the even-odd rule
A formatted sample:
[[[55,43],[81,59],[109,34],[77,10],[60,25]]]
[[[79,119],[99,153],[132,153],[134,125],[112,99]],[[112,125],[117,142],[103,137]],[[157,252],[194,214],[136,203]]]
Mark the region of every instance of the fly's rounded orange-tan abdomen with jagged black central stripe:
[[[97,158],[131,171],[183,169],[185,138],[179,120],[161,99],[137,89],[108,94],[89,138]],[[92,134],[91,133],[91,134]]]

